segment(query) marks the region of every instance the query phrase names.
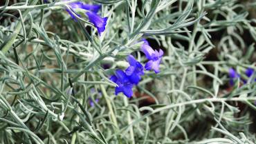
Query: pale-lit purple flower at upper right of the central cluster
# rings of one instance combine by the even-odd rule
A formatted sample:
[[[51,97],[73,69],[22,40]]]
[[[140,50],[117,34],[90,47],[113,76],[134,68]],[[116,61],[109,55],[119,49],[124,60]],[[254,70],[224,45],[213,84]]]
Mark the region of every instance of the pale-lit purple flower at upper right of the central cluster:
[[[159,52],[157,50],[153,50],[149,46],[147,40],[143,41],[144,43],[141,46],[141,51],[143,51],[147,59],[149,59],[149,61],[145,65],[145,69],[154,70],[156,73],[160,72],[159,65],[163,56],[163,50],[160,49]]]

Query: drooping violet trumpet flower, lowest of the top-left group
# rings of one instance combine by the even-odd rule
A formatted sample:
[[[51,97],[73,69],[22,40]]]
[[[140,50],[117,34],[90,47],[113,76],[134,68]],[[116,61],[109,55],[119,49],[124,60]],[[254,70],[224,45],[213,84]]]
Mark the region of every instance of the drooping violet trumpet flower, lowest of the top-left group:
[[[93,23],[93,25],[97,28],[98,33],[101,34],[102,32],[104,32],[107,25],[107,17],[101,18],[95,12],[86,12],[86,14],[89,18],[89,21]]]

